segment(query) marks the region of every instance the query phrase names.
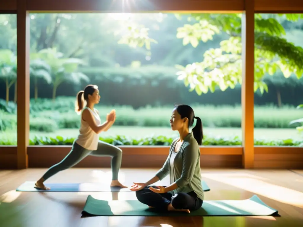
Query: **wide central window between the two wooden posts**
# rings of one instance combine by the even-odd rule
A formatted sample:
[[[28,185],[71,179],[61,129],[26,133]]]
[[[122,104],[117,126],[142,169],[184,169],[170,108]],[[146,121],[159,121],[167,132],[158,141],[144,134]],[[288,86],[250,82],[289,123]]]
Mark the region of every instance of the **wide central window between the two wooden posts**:
[[[169,120],[174,105],[183,103],[202,119],[205,145],[241,145],[241,15],[30,18],[33,144],[72,143],[80,127],[76,94],[96,84],[102,122],[113,108],[117,113],[102,139],[165,145],[178,135]]]

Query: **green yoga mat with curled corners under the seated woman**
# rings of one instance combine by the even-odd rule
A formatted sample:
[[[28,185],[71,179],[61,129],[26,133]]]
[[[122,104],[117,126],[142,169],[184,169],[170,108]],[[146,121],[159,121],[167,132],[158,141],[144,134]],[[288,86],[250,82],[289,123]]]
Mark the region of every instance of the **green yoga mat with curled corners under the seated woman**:
[[[138,200],[98,200],[88,196],[83,216],[269,216],[278,211],[254,195],[245,200],[203,201],[199,210],[186,212],[157,212]]]

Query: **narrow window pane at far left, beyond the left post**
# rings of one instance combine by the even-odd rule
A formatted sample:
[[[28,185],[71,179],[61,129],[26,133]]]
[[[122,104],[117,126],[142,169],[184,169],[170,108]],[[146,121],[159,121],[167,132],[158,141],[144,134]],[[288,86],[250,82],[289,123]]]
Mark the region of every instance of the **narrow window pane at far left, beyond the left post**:
[[[17,144],[17,16],[0,14],[0,146]]]

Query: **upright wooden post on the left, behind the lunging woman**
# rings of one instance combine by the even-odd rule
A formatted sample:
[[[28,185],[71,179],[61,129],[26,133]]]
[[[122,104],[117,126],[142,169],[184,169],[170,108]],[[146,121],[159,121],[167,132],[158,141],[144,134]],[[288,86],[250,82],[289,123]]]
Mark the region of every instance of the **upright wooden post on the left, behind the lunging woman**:
[[[29,15],[26,0],[17,0],[17,168],[28,167]]]

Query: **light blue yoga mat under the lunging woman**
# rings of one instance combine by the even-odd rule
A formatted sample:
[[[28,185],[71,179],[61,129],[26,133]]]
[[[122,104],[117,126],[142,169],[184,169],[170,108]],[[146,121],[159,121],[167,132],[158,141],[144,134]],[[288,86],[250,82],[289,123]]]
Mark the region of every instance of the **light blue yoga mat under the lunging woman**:
[[[98,183],[45,183],[50,190],[40,190],[34,188],[34,181],[26,181],[20,185],[16,191],[18,192],[132,192],[127,188],[110,187],[105,184]],[[202,181],[203,190],[209,191],[209,187],[205,181]]]

